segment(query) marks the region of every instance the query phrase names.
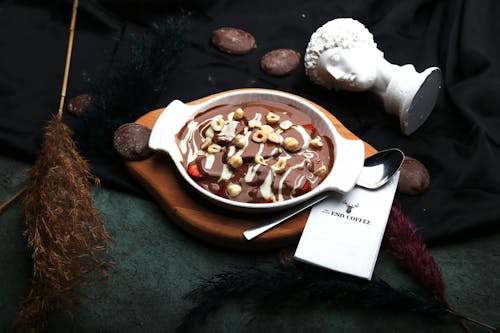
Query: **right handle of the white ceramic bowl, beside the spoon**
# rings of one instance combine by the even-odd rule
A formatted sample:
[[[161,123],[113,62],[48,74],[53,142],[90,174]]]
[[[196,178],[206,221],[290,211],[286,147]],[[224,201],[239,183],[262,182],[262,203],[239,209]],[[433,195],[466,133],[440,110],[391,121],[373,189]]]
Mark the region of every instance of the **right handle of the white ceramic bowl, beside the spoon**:
[[[335,163],[329,189],[339,193],[347,193],[354,188],[365,160],[365,146],[361,140],[347,140],[336,135]]]

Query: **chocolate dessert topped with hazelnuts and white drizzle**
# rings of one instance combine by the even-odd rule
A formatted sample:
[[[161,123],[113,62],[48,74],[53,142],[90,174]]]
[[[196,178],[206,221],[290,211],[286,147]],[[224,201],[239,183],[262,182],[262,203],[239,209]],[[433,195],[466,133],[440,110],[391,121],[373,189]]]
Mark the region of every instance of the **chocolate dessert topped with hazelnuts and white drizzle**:
[[[183,165],[204,189],[250,203],[311,191],[333,165],[333,143],[312,119],[283,103],[220,105],[177,134]]]

